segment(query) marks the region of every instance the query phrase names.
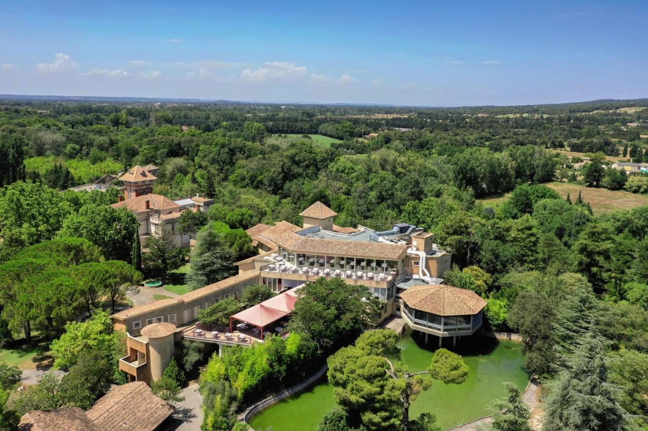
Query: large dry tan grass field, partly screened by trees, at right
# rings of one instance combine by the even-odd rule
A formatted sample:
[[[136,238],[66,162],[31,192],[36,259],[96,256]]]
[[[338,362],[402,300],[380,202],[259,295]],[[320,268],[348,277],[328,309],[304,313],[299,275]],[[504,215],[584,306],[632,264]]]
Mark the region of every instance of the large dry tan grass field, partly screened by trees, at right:
[[[562,198],[570,194],[572,202],[578,197],[581,191],[583,200],[589,202],[594,215],[605,214],[616,210],[631,210],[637,206],[648,205],[648,195],[625,192],[623,190],[607,190],[607,188],[592,188],[572,182],[548,182],[545,184],[558,192]],[[500,206],[511,193],[494,195],[479,199],[482,203],[497,207]]]

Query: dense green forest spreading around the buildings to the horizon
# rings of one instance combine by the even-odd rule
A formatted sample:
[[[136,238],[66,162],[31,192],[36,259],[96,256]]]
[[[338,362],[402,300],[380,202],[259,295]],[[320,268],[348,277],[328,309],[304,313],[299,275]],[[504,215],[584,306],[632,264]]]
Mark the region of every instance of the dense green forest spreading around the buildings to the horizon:
[[[369,133],[378,136],[364,138]],[[339,142],[323,145],[308,134]],[[568,149],[592,153],[589,167],[577,171],[575,160],[552,151]],[[595,216],[581,196],[563,199],[543,185],[631,190],[628,183],[648,192],[647,175],[629,181],[607,169],[606,156],[648,162],[648,100],[457,108],[5,100],[0,338],[34,329],[60,335],[75,313],[97,306],[96,293],[74,285],[77,267],[135,262],[134,217],[106,206],[116,193],[59,190],[156,164],[154,193],[214,198],[207,217],[189,221],[189,230],[211,223],[234,232],[226,241],[211,239],[228,263],[251,253],[239,229],[299,224],[299,212],[318,200],[338,212],[337,225],[384,229],[404,221],[434,232],[452,252],[446,282],[486,298],[487,324],[520,333],[527,369],[555,382],[550,429],[566,429],[573,419],[561,399],[587,403],[596,384],[613,386],[603,397],[608,404],[588,410],[590,422],[580,429],[623,429],[615,421],[647,426],[648,206]],[[511,194],[501,205],[480,200],[498,193]],[[87,244],[66,245],[72,236]],[[60,256],[45,259],[32,248],[40,243]],[[82,258],[64,252],[79,247]],[[29,277],[18,270],[28,264]],[[58,283],[49,279],[54,273]],[[218,278],[230,273],[220,267]],[[17,274],[21,283],[14,283]],[[45,295],[51,289],[75,304]],[[49,298],[47,306],[30,303],[25,295],[32,291]],[[583,363],[593,361],[600,381],[570,386],[586,378]],[[228,396],[240,401],[248,392]],[[597,414],[614,420],[597,428]]]

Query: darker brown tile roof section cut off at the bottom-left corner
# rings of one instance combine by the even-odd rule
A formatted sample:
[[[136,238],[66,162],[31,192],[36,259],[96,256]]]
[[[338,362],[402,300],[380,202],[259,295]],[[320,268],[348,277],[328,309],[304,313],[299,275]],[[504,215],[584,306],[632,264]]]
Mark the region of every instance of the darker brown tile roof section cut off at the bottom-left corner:
[[[99,431],[80,408],[59,408],[43,412],[36,410],[20,418],[20,431]]]

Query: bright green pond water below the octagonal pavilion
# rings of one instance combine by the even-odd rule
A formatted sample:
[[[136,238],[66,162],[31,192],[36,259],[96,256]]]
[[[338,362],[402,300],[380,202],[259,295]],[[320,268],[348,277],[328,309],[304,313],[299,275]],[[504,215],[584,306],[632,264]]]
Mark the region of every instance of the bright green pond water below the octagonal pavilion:
[[[418,334],[402,338],[399,347],[403,362],[410,371],[425,370],[436,344],[436,337],[431,337],[427,346]],[[459,385],[435,380],[432,387],[420,393],[412,403],[410,418],[430,412],[436,415],[439,426],[452,428],[490,414],[491,402],[505,395],[503,382],[513,382],[520,390],[526,388],[530,375],[524,370],[524,356],[518,343],[464,337],[452,351],[462,355],[470,367],[468,379]],[[267,428],[315,431],[321,417],[334,406],[333,389],[324,381],[266,408],[252,418],[250,425],[257,431]]]

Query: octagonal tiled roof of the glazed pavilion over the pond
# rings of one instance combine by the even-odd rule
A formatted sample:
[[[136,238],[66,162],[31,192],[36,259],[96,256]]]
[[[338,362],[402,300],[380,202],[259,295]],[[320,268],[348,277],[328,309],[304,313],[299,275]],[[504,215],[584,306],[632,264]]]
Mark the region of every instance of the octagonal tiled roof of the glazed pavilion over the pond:
[[[437,316],[476,315],[487,304],[473,291],[445,284],[415,285],[400,298],[413,309]]]

